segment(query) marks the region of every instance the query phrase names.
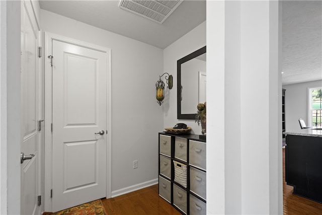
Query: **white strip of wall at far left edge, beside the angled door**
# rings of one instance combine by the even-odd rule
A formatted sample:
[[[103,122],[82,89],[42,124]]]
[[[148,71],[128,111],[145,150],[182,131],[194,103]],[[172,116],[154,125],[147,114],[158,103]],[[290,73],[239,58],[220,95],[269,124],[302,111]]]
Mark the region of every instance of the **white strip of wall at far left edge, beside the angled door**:
[[[20,1],[1,1],[1,214],[20,214]],[[18,59],[18,60],[17,60]]]

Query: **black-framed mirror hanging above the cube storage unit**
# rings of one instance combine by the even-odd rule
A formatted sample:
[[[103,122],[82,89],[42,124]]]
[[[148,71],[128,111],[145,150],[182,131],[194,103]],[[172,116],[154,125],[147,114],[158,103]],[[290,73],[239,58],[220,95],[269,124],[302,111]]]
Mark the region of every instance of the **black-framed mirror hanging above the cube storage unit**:
[[[177,61],[178,119],[195,119],[197,105],[205,102],[205,80],[206,46]]]

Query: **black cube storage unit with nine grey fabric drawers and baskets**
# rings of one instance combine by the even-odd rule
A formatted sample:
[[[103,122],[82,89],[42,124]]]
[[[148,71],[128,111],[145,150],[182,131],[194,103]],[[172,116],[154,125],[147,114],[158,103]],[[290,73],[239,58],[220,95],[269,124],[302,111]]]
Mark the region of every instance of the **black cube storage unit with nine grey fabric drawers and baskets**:
[[[159,196],[182,214],[206,214],[206,141],[159,133]]]

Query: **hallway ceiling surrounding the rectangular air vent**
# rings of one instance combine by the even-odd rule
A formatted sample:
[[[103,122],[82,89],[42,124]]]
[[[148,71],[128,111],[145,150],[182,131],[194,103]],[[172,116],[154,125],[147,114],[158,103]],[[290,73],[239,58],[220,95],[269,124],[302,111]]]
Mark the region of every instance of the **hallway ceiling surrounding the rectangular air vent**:
[[[40,1],[40,8],[162,49],[206,21],[206,1],[183,1],[163,24],[122,10],[119,3]]]

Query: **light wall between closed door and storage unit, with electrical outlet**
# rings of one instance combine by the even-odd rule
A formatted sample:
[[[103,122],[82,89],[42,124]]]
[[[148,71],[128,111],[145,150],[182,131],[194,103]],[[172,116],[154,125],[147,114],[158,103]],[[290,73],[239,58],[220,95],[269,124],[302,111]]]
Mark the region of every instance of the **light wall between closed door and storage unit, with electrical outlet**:
[[[44,10],[40,19],[44,31],[112,49],[112,196],[157,182],[163,50]]]

